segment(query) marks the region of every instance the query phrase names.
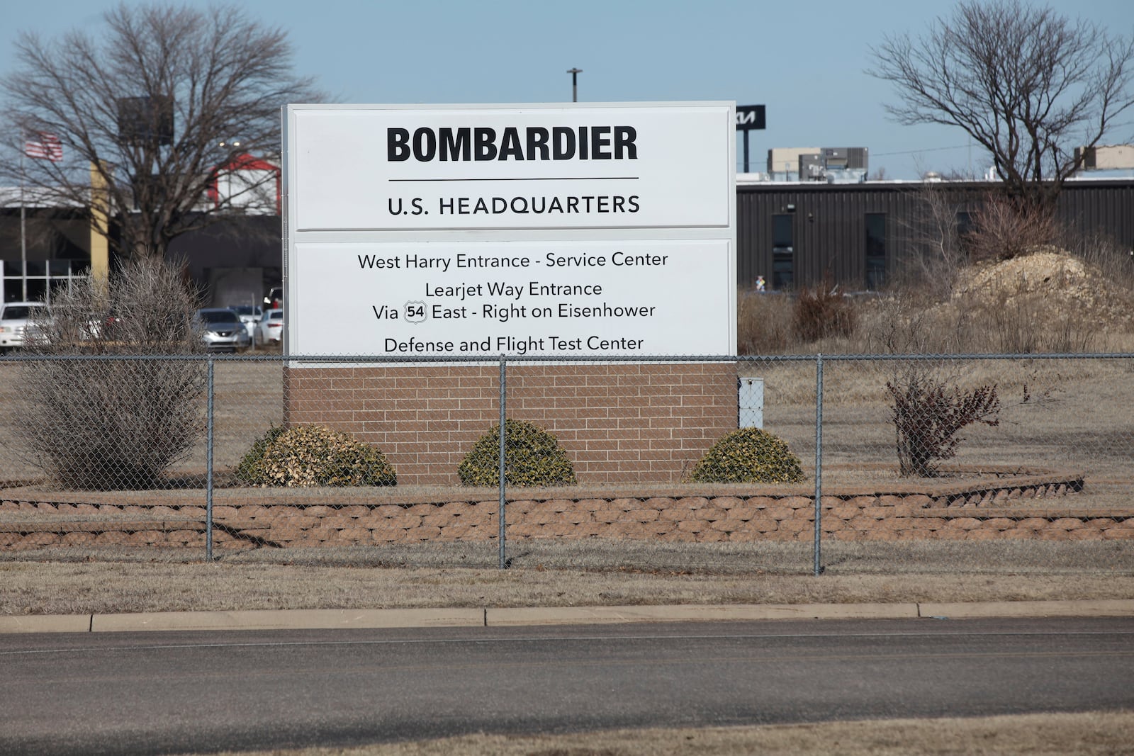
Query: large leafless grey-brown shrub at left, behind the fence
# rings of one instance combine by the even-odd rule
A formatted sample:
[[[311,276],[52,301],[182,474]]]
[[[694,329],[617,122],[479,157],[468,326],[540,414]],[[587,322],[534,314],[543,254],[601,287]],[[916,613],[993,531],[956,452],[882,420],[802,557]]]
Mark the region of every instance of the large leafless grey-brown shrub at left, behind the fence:
[[[196,297],[179,266],[139,256],[108,284],[86,280],[52,298],[23,367],[17,432],[65,489],[151,489],[204,430],[202,360],[82,359],[201,354]],[[76,357],[76,359],[58,359]]]

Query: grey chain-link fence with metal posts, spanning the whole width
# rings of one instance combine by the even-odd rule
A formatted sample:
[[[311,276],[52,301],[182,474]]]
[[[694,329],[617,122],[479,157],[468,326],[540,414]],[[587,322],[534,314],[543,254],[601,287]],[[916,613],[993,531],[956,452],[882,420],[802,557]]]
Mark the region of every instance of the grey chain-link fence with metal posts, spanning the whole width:
[[[1132,369],[9,355],[0,550],[1131,574]]]

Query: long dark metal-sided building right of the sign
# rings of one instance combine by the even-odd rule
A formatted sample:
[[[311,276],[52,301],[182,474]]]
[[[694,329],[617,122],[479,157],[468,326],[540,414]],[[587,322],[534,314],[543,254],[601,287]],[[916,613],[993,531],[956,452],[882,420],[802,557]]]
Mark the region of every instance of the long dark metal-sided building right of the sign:
[[[824,280],[877,290],[926,252],[933,236],[963,235],[997,185],[938,182],[753,182],[737,186],[737,282],[771,290]],[[1057,220],[1082,236],[1134,250],[1134,179],[1075,179]]]

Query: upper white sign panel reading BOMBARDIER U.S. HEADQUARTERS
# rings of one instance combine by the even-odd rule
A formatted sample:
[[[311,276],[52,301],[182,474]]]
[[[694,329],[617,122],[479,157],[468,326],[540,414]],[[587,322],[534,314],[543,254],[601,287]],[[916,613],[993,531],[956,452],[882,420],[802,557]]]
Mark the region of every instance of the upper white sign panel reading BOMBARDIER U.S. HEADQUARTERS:
[[[727,227],[727,107],[296,110],[296,230]]]

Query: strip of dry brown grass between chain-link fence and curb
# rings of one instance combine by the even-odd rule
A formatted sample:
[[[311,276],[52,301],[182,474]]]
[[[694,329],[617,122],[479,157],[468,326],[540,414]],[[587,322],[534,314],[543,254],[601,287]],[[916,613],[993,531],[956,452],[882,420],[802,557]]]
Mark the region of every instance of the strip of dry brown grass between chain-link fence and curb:
[[[509,549],[507,570],[490,543],[217,563],[185,563],[184,551],[52,554],[75,561],[0,562],[0,614],[1134,598],[1134,542],[1117,541],[831,543],[820,577],[807,544],[528,542]]]

